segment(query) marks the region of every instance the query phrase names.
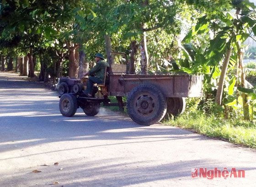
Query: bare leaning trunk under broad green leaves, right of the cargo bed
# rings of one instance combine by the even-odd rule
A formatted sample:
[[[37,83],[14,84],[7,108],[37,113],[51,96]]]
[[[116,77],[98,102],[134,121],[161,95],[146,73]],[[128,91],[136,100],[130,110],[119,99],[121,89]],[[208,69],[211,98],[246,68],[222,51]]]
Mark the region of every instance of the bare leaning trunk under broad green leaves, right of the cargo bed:
[[[229,65],[229,60],[230,60],[230,56],[232,54],[232,49],[228,49],[226,57],[224,59],[223,65],[222,65],[222,70],[220,73],[220,77],[219,77],[219,83],[218,83],[218,90],[217,90],[217,94],[215,97],[215,102],[218,105],[221,105],[221,101],[222,101],[222,93],[223,93],[223,86],[224,86],[224,80],[225,80],[225,76],[228,70],[228,65]]]

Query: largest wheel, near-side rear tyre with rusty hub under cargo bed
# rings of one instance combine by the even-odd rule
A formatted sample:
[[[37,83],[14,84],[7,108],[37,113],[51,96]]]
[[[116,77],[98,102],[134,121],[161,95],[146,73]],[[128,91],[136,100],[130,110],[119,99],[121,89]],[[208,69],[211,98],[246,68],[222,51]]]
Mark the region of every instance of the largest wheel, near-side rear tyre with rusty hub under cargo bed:
[[[128,95],[128,114],[139,125],[159,122],[165,116],[166,109],[165,96],[153,85],[137,86]]]

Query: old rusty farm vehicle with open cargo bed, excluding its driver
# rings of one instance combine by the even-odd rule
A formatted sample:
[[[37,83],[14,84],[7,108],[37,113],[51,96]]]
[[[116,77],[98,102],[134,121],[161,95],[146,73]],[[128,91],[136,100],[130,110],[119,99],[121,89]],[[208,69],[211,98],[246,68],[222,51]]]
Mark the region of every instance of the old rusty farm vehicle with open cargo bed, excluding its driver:
[[[81,83],[74,83],[75,91],[60,96],[61,114],[74,116],[80,107],[86,115],[95,116],[103,103],[105,106],[126,106],[133,121],[139,125],[152,125],[162,120],[166,113],[176,116],[184,112],[186,97],[203,96],[203,75],[182,72],[128,74],[124,69],[123,65],[116,65],[115,68],[112,65],[106,71],[105,82],[95,87],[92,98],[84,96]],[[108,96],[116,96],[118,103],[110,103]],[[126,103],[123,103],[123,96],[127,96]]]

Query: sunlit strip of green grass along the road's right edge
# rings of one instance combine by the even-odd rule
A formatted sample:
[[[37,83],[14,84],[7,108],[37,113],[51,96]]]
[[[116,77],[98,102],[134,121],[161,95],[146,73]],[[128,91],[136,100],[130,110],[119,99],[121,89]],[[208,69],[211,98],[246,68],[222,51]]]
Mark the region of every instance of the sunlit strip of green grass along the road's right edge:
[[[221,119],[201,111],[193,111],[162,122],[166,125],[256,148],[256,121]]]

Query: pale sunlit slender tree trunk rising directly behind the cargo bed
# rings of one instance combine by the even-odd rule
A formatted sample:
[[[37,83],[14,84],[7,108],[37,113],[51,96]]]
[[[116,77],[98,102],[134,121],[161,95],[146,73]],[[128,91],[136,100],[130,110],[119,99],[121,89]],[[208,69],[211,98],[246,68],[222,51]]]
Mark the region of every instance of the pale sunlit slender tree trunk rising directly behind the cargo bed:
[[[148,56],[148,49],[147,49],[147,39],[146,39],[146,32],[143,32],[142,40],[140,42],[140,55],[141,55],[141,73],[146,74],[148,72],[148,63],[149,63],[149,56]]]

